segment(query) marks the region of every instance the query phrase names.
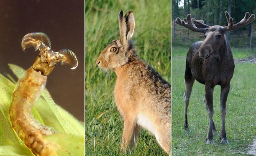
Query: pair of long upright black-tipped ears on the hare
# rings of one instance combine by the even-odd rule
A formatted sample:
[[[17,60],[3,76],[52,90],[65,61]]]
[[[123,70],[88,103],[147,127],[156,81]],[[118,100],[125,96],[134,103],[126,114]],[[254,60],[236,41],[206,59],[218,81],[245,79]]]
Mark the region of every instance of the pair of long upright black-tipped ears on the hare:
[[[121,40],[123,41],[123,45],[126,46],[134,33],[135,19],[133,12],[129,11],[123,17],[123,11],[120,10],[118,20]]]

